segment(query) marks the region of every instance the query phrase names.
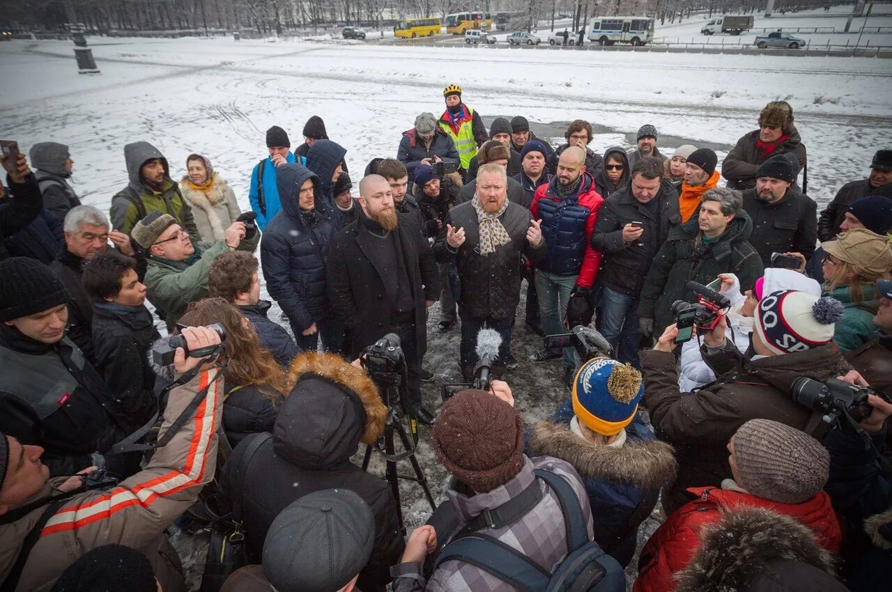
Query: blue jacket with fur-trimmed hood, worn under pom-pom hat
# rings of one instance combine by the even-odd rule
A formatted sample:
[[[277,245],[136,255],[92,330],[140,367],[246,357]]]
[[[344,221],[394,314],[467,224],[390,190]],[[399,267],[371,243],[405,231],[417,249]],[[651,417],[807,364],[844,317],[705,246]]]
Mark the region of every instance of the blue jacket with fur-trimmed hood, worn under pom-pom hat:
[[[673,448],[656,440],[638,414],[625,428],[620,448],[585,440],[570,431],[574,417],[566,399],[549,421],[524,434],[527,456],[554,456],[573,465],[585,482],[595,540],[622,565],[632,560],[638,527],[657,505],[660,487],[673,481]]]

